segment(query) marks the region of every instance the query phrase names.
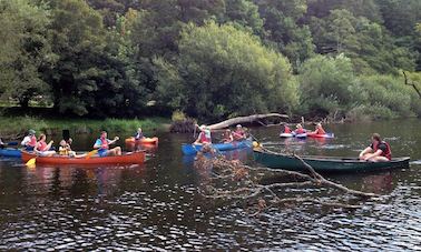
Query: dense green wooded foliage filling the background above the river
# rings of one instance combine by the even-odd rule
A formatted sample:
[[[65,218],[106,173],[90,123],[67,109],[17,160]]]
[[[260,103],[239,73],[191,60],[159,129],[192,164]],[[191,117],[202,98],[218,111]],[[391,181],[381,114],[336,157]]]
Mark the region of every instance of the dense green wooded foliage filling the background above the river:
[[[0,95],[209,121],[421,115],[419,0],[0,0]]]

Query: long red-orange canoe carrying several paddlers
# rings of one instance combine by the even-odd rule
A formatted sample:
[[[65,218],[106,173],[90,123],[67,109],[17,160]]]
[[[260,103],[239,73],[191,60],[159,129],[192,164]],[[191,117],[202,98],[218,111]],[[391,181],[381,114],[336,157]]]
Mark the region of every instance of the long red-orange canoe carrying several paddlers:
[[[145,162],[145,152],[130,152],[118,157],[91,157],[69,158],[62,155],[37,157],[35,153],[22,151],[22,161],[26,163],[32,158],[37,158],[37,163],[45,164],[137,164]]]

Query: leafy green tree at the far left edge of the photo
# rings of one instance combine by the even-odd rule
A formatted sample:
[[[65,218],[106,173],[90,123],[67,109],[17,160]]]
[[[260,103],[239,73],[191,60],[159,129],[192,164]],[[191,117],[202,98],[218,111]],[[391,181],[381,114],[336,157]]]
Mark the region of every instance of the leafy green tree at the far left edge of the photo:
[[[39,71],[56,60],[47,39],[48,8],[27,0],[0,0],[0,23],[2,98],[17,99],[22,107],[37,94],[47,99],[49,87]]]

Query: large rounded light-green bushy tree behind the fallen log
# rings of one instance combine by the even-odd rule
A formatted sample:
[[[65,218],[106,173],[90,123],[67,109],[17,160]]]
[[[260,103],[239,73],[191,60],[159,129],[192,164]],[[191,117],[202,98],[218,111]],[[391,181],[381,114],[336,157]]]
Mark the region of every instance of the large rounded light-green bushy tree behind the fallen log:
[[[180,103],[189,115],[215,120],[255,112],[290,112],[297,103],[287,59],[233,26],[189,24],[182,33],[179,57],[179,77],[167,65],[159,83],[182,79],[182,97],[174,97],[173,102]],[[168,97],[165,85],[157,90]]]

